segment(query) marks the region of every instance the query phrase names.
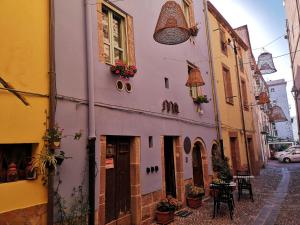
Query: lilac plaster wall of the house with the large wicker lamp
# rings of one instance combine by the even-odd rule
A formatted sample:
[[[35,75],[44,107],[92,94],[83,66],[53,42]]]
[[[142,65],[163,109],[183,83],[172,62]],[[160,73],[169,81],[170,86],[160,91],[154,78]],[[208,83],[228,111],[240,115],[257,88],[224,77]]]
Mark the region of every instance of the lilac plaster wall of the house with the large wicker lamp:
[[[57,90],[58,95],[75,97],[77,103],[86,102],[86,58],[85,58],[85,26],[84,1],[55,1],[56,4],[56,58],[57,58]],[[181,4],[181,1],[178,1]],[[136,66],[138,72],[128,82],[133,91],[118,91],[115,83],[118,78],[110,73],[110,66],[99,62],[97,4],[89,1],[92,7],[92,37],[95,88],[95,115],[97,140],[101,135],[126,135],[141,137],[141,192],[153,192],[161,188],[161,171],[153,175],[145,175],[147,166],[161,165],[161,135],[189,136],[193,141],[201,137],[207,147],[207,155],[213,140],[216,139],[214,110],[212,102],[211,78],[208,63],[204,14],[201,1],[194,2],[195,18],[199,24],[198,36],[193,41],[180,45],[165,46],[153,40],[153,32],[160,9],[164,1],[126,0],[114,2],[118,8],[133,17]],[[188,78],[187,61],[194,63],[201,70],[205,86],[203,94],[211,101],[203,104],[204,114],[196,112],[196,106],[185,86]],[[169,78],[170,88],[166,89],[164,78]],[[178,115],[162,112],[164,100],[177,102]],[[59,100],[57,106],[57,122],[72,133],[83,129],[83,138],[87,137],[86,105],[77,104],[75,99]],[[153,136],[153,148],[148,147],[148,136]],[[96,140],[96,143],[97,143]],[[71,156],[61,168],[67,182],[63,182],[62,192],[66,194],[76,182],[76,178],[84,169],[86,158],[85,142],[62,143],[62,150]],[[97,161],[99,162],[99,146]],[[185,154],[185,153],[184,153]],[[184,162],[184,178],[192,177],[191,155]],[[185,158],[185,157],[184,157]],[[209,159],[209,162],[211,160]],[[72,165],[76,167],[67,168]],[[98,164],[99,166],[99,164]],[[209,173],[211,165],[209,164]],[[99,176],[99,174],[98,174]],[[98,182],[98,178],[96,179]],[[97,188],[99,183],[97,183]],[[96,193],[98,193],[96,191]],[[97,205],[97,203],[96,203]]]

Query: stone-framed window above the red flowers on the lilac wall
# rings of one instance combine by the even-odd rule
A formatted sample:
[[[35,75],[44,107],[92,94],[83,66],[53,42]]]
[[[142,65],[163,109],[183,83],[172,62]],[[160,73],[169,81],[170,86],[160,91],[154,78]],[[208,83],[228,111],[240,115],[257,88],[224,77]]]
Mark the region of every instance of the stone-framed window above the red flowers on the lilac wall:
[[[133,19],[107,2],[98,6],[99,60],[135,65]]]

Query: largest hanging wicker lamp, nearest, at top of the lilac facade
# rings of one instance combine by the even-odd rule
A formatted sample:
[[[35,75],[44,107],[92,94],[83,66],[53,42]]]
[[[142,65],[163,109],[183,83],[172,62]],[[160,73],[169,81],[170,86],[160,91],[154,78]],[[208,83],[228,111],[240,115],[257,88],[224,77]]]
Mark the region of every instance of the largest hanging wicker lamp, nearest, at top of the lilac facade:
[[[167,1],[159,14],[153,34],[155,41],[165,45],[176,45],[190,38],[188,24],[182,9],[175,1]]]

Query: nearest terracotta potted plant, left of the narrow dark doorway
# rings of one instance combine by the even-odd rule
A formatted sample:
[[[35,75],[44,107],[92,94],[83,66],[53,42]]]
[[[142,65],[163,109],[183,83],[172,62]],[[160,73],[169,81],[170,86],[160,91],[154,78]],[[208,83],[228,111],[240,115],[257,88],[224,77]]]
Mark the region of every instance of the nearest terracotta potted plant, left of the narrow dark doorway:
[[[158,224],[168,224],[174,220],[176,206],[171,204],[169,199],[161,200],[156,206],[156,222]]]

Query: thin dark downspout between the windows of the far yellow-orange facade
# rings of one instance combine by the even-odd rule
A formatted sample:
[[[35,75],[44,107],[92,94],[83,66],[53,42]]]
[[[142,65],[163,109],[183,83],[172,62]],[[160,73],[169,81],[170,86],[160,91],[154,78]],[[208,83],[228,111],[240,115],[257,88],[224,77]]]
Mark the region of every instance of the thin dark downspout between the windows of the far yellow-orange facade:
[[[238,67],[238,58],[237,58],[237,47],[235,44],[235,39],[233,39],[233,48],[234,48],[234,56],[235,56],[235,64],[236,64],[236,75],[238,80],[238,91],[239,91],[239,99],[240,99],[240,110],[241,110],[241,120],[242,120],[242,129],[244,133],[244,141],[245,141],[245,148],[246,148],[246,156],[247,156],[247,164],[250,173],[252,174],[252,167],[249,161],[249,149],[248,149],[248,141],[247,141],[247,134],[246,134],[246,126],[245,126],[245,114],[244,114],[244,105],[242,99],[242,92],[241,92],[241,80],[240,80],[240,71]]]

